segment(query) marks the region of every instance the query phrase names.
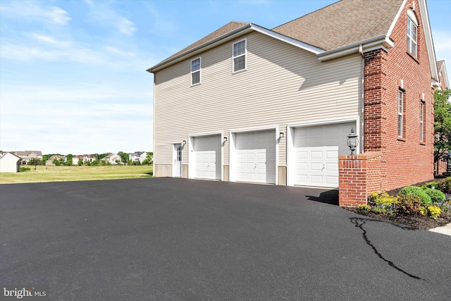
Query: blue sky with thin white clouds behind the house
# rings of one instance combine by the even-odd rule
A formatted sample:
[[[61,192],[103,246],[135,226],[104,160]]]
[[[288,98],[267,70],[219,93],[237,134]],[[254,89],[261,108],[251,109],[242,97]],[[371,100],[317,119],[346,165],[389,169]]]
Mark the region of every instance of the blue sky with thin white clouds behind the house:
[[[230,20],[271,29],[333,2],[2,0],[0,149],[152,151],[147,68]],[[451,0],[428,10],[451,74]]]

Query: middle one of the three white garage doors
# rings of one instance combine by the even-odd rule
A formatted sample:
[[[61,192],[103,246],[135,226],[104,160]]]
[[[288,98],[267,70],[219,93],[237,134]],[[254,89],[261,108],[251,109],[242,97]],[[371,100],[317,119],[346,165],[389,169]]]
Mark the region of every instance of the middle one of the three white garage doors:
[[[236,134],[236,180],[276,183],[276,132]]]

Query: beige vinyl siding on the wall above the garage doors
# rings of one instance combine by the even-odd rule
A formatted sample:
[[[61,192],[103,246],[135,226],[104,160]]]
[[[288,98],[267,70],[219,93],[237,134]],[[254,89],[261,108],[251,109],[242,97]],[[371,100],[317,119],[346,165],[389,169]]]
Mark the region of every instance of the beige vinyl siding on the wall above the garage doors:
[[[247,70],[233,73],[232,44],[247,38]],[[286,126],[359,116],[362,58],[322,63],[314,54],[258,32],[222,44],[202,57],[202,84],[190,85],[190,61],[155,75],[154,162],[171,164],[173,142],[187,135],[274,128],[278,165],[286,164]],[[229,142],[223,148],[228,165]],[[187,147],[183,164],[187,164]]]

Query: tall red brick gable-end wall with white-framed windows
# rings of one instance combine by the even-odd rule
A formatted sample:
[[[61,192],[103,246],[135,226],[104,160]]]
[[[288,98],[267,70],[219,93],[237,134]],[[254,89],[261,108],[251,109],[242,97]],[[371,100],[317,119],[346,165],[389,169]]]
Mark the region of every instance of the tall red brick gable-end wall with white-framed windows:
[[[381,189],[391,190],[433,178],[433,90],[431,70],[415,1],[417,58],[407,51],[408,1],[390,39],[395,47],[365,53],[365,151],[381,151]],[[397,137],[397,93],[404,88],[404,135]],[[426,114],[424,142],[420,142],[419,111],[424,94]]]

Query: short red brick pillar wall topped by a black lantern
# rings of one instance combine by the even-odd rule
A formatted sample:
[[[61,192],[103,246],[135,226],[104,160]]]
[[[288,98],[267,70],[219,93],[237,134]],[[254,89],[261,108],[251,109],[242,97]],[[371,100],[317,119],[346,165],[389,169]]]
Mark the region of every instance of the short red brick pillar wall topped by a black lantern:
[[[381,156],[381,152],[338,156],[340,206],[366,204],[371,192],[381,190]]]

